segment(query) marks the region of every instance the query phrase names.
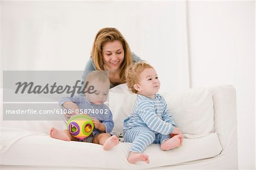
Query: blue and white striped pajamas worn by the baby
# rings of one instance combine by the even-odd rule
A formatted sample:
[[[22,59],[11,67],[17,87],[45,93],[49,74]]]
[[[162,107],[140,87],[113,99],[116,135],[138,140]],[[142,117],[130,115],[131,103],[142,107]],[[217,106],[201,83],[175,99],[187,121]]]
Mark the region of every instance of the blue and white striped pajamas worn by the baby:
[[[155,94],[155,99],[137,94],[133,111],[125,119],[123,138],[133,143],[130,151],[142,153],[151,143],[163,143],[171,138],[174,130],[167,103],[162,96]]]

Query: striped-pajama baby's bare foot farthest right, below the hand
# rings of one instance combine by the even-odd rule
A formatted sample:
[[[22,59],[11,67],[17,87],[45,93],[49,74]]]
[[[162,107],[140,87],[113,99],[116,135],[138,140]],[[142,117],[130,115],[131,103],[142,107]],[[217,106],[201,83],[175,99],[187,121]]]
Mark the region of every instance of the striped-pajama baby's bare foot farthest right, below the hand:
[[[182,135],[179,134],[179,135],[175,135],[174,137],[172,137],[171,139],[168,139],[166,141],[164,141],[162,144],[161,144],[161,149],[164,150],[164,151],[167,151],[167,150],[171,150],[171,149],[174,149],[176,147],[179,147],[182,145]]]

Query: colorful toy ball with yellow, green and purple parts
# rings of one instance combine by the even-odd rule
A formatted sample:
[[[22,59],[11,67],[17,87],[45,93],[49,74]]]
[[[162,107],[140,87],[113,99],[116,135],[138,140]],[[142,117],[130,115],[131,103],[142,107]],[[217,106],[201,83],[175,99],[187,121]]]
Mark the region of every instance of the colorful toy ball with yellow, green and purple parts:
[[[83,140],[92,134],[94,124],[92,118],[90,118],[89,115],[76,114],[69,119],[67,128],[72,136]]]

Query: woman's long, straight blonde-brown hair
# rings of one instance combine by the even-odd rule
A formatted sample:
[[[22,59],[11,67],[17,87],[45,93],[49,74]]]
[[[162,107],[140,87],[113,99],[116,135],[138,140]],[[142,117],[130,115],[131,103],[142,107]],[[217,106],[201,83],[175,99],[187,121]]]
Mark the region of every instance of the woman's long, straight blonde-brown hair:
[[[125,38],[117,30],[117,28],[102,28],[98,31],[92,48],[92,60],[95,64],[95,67],[98,71],[104,71],[103,65],[103,56],[102,56],[102,48],[106,42],[113,42],[114,40],[119,40],[123,45],[123,50],[125,52],[125,58],[120,66],[119,77],[121,81],[125,80],[125,71],[126,68],[133,63],[133,55],[131,54],[130,47],[126,42]]]

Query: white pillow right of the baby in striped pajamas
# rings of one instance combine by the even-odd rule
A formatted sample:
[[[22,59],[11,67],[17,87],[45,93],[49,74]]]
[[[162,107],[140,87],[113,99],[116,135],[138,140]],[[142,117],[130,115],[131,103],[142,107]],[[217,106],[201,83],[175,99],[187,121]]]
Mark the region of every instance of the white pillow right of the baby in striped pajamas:
[[[183,134],[204,135],[213,132],[213,101],[208,89],[189,89],[178,94],[163,93],[162,96]]]

